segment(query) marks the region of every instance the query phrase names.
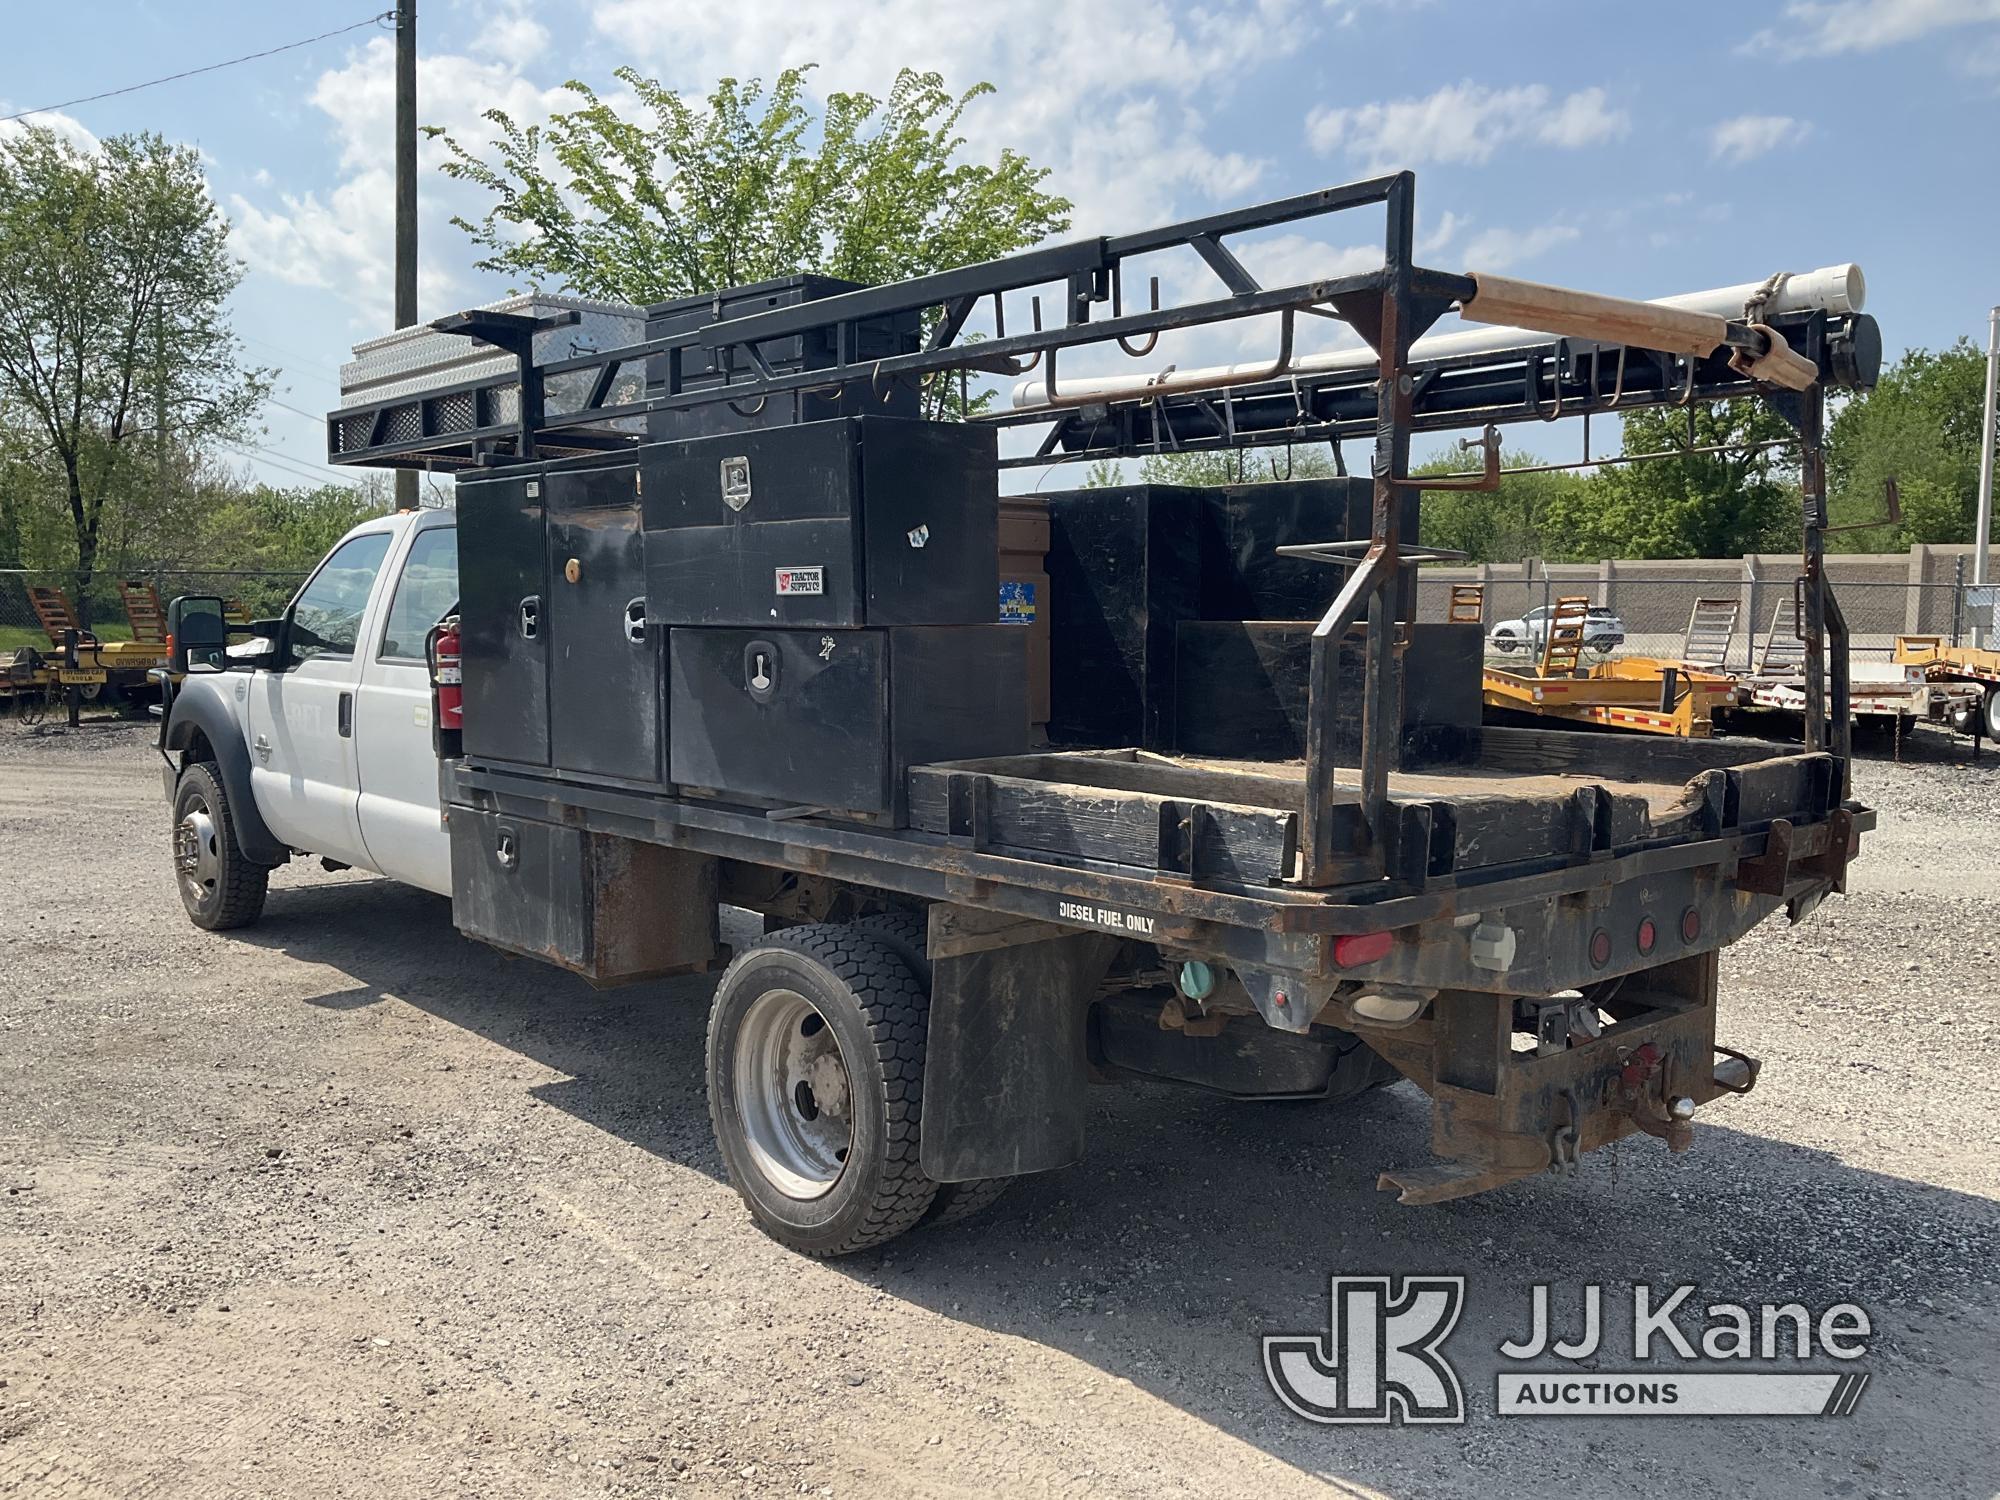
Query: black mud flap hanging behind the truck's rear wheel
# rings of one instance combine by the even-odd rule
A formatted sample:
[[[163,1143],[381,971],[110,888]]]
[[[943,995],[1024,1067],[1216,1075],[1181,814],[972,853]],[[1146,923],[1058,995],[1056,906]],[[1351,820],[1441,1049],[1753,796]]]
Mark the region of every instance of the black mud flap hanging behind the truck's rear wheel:
[[[1118,940],[938,902],[928,948],[924,1174],[972,1182],[1076,1162],[1090,1000]]]

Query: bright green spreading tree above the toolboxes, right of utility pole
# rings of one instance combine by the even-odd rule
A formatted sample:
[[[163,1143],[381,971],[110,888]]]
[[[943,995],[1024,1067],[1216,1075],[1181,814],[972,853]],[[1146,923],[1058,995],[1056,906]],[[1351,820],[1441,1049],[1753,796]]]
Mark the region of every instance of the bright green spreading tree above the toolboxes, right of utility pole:
[[[786,68],[768,94],[724,78],[690,104],[618,68],[646,118],[572,80],[580,106],[546,126],[488,110],[498,134],[484,148],[430,130],[450,152],[442,170],[492,194],[482,218],[454,222],[486,252],[482,270],[640,304],[798,272],[894,282],[1070,226],[1026,156],[964,160],[958,122],[990,84],[954,96],[906,68],[886,100],[830,94],[814,120],[806,72]]]

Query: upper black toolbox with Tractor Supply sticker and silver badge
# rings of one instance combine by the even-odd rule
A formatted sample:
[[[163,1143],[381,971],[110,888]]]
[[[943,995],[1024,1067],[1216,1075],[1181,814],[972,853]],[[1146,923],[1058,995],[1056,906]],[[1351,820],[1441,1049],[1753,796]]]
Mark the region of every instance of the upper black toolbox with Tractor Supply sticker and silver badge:
[[[640,450],[652,618],[986,624],[998,448],[962,422],[846,418]]]

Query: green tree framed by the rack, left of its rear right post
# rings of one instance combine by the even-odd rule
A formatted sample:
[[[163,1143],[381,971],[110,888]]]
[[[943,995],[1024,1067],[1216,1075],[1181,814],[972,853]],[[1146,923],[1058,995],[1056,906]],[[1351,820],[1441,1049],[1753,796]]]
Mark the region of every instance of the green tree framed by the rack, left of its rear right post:
[[[1548,554],[1588,558],[1734,558],[1798,544],[1794,450],[1762,444],[1792,428],[1758,398],[1630,412],[1624,452],[1682,452],[1600,470],[1594,480],[1548,496]],[[1722,448],[1724,452],[1688,452]]]

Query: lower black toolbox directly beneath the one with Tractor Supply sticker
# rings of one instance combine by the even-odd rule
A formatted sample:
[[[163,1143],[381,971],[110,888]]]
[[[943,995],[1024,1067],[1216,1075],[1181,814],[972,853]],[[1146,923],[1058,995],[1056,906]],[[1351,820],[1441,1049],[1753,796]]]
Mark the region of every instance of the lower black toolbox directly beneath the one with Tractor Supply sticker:
[[[1028,748],[1026,646],[1004,624],[672,630],[672,778],[900,826],[910,766]]]

